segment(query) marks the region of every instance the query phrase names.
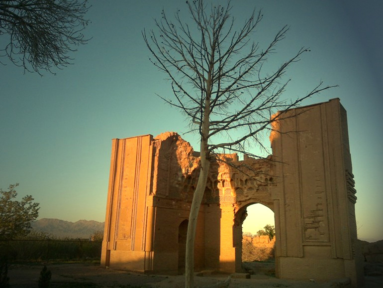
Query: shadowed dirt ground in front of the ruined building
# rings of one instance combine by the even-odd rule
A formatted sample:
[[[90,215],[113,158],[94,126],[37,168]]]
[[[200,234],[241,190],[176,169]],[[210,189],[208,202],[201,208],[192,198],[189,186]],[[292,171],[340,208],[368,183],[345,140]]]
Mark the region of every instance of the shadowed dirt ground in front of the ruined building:
[[[252,267],[253,265],[253,267]],[[229,288],[336,288],[349,287],[345,280],[318,283],[313,281],[292,281],[270,276],[270,263],[248,264],[255,272],[251,279],[231,279]],[[185,276],[143,275],[126,271],[105,269],[99,264],[50,264],[52,272],[51,288],[183,288]],[[37,288],[42,265],[11,265],[8,270],[11,288]],[[228,275],[211,274],[208,277],[196,276],[195,287],[204,287],[223,282]],[[234,276],[233,276],[234,277]],[[371,273],[366,277],[364,288],[382,288],[383,275]]]

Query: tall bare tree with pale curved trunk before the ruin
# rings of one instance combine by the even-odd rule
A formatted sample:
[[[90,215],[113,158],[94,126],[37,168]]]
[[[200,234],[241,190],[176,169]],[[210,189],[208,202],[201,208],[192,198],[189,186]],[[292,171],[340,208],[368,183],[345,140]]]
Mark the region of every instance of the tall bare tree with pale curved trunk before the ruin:
[[[210,162],[222,160],[218,154],[223,149],[257,157],[245,151],[246,144],[263,146],[262,133],[272,129],[271,124],[278,117],[330,86],[319,83],[306,95],[284,99],[283,92],[290,81],[283,78],[287,68],[309,51],[301,48],[274,71],[264,71],[265,61],[285,38],[287,26],[261,49],[252,40],[262,20],[261,11],[254,10],[236,29],[230,1],[224,6],[208,7],[202,0],[193,0],[187,5],[189,18],[178,10],[172,21],[163,10],[161,20],[155,21],[156,31],[144,30],[143,37],[153,56],[150,61],[165,72],[172,84],[173,99],[159,96],[190,119],[190,132],[197,132],[200,138],[200,173],[191,204],[186,248],[186,287],[191,288],[196,220]]]

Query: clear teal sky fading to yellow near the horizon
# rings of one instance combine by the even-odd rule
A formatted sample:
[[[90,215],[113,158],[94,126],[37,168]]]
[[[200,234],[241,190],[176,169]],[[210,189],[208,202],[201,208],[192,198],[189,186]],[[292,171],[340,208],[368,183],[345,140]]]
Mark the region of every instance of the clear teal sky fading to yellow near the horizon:
[[[141,35],[154,27],[162,8],[171,15],[186,10],[185,1],[90,2],[86,35],[93,38],[71,54],[74,65],[40,77],[1,58],[6,66],[0,65],[0,187],[19,182],[19,195],[31,194],[40,203],[39,218],[104,221],[111,139],[187,131],[183,116],[155,96],[170,95],[170,83],[149,62]],[[383,2],[232,4],[241,23],[254,6],[263,8],[254,35],[261,47],[290,26],[272,64],[302,46],[311,48],[289,70],[287,96],[301,95],[321,80],[339,85],[304,104],[341,99],[348,113],[358,234],[383,239]],[[0,48],[6,41],[0,35]],[[198,150],[193,135],[184,139]]]

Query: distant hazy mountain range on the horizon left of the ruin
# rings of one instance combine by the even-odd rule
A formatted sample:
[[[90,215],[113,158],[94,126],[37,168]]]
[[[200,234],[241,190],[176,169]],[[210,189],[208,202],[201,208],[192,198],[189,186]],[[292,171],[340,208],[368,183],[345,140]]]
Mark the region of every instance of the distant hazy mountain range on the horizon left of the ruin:
[[[104,229],[104,222],[79,220],[69,222],[60,219],[42,218],[31,223],[33,230],[52,234],[59,238],[89,238],[95,231]]]

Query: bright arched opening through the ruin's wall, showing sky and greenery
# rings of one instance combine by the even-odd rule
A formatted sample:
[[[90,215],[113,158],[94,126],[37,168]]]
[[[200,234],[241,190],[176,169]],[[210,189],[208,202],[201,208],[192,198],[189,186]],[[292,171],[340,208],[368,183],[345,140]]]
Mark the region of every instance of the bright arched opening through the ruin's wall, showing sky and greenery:
[[[260,203],[242,209],[241,267],[250,274],[275,277],[274,212]]]

